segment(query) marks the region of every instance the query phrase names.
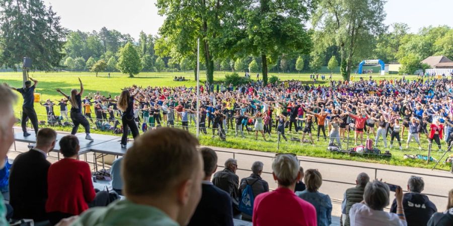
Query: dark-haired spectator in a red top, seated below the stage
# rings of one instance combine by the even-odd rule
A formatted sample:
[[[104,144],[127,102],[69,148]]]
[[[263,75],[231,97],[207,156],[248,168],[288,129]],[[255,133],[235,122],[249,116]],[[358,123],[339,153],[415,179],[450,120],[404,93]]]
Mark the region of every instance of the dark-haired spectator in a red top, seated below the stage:
[[[108,193],[96,194],[88,163],[77,160],[79,139],[68,135],[60,140],[64,158],[52,164],[47,173],[46,212],[52,225],[61,219],[79,215],[91,206],[106,206]]]

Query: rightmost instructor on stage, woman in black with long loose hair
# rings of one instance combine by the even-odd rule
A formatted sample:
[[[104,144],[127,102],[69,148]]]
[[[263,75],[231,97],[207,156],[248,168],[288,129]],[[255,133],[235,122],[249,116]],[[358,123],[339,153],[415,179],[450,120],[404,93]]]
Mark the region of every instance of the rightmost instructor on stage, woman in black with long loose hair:
[[[132,137],[134,140],[138,137],[138,127],[134,121],[134,99],[138,94],[137,86],[133,86],[135,89],[134,94],[130,94],[129,89],[124,89],[120,97],[118,98],[117,106],[123,112],[121,116],[121,122],[123,123],[123,136],[121,137],[121,148],[126,148],[127,145],[127,135],[129,134],[129,129],[132,132]]]

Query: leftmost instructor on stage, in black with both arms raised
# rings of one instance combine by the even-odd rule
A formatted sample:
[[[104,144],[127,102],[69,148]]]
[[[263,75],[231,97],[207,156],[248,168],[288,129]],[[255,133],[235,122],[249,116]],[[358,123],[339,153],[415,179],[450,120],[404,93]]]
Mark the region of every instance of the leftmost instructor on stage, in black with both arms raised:
[[[31,85],[31,81],[33,81],[33,85]],[[38,117],[36,116],[36,111],[33,106],[33,102],[35,101],[35,88],[38,85],[38,81],[30,78],[30,81],[25,81],[25,88],[14,88],[9,86],[7,83],[4,83],[6,86],[10,87],[13,90],[16,90],[22,94],[24,97],[24,104],[22,105],[22,131],[24,132],[24,137],[30,136],[27,132],[27,122],[30,119],[33,129],[35,129],[35,136],[38,134]]]

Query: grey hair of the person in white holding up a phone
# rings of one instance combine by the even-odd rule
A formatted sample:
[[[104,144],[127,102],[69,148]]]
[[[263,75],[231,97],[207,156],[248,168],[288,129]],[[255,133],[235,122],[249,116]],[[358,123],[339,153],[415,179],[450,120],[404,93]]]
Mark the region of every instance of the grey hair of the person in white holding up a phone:
[[[390,188],[382,181],[371,181],[365,186],[363,200],[371,209],[383,210],[390,204]]]

